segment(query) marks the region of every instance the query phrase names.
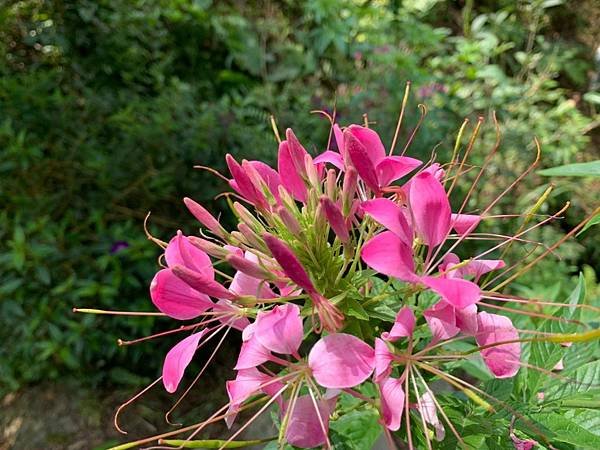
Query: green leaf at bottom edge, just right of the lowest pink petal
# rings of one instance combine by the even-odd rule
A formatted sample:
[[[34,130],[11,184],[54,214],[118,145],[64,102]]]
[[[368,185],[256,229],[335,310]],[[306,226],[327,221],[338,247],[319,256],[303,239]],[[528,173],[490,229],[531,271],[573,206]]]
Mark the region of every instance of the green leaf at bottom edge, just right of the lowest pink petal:
[[[344,414],[330,423],[331,441],[335,448],[363,450],[373,448],[381,434],[379,414],[373,409],[362,409]]]

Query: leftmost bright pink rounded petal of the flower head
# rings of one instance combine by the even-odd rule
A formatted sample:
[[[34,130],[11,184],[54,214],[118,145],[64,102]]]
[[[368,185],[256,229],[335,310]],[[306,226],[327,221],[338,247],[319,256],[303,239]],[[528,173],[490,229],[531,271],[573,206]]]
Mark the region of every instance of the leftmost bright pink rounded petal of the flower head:
[[[189,287],[171,269],[163,269],[154,276],[150,298],[161,312],[178,320],[194,319],[213,307],[207,295]]]

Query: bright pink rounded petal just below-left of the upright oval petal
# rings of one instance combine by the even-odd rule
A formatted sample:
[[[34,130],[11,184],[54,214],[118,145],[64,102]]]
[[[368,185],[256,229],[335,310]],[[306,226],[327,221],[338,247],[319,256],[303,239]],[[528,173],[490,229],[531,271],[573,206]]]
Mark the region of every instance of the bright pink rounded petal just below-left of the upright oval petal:
[[[371,238],[362,248],[361,257],[379,273],[402,281],[415,282],[412,249],[391,231],[384,231]]]

